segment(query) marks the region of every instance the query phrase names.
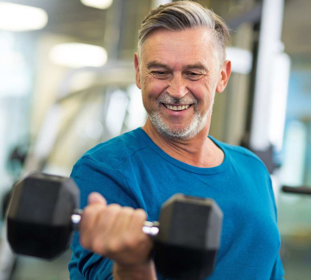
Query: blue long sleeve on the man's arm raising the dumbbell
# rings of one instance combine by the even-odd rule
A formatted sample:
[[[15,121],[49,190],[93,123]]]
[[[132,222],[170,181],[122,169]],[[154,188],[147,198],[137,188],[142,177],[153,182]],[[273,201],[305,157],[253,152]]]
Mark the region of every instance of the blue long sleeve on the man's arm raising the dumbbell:
[[[107,203],[138,208],[122,176],[110,166],[103,166],[89,157],[82,157],[73,167],[71,177],[80,188],[81,208],[86,206],[87,196],[93,191],[101,193]],[[68,265],[71,280],[112,279],[113,262],[82,248],[78,232],[74,235],[71,249],[73,259]]]

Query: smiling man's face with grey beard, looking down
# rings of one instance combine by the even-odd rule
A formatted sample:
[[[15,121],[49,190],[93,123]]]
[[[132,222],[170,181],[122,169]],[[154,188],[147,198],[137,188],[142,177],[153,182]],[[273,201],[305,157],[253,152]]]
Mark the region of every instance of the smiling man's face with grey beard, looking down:
[[[211,117],[220,77],[206,28],[155,30],[145,41],[138,77],[149,119],[168,138],[187,140]]]

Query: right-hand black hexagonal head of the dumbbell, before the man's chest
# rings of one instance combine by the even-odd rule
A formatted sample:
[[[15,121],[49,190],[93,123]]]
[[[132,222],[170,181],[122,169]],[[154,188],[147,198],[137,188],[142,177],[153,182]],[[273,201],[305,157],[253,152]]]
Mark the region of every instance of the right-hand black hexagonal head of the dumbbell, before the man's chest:
[[[223,213],[210,198],[175,194],[160,212],[155,240],[159,271],[177,279],[204,279],[214,269]]]

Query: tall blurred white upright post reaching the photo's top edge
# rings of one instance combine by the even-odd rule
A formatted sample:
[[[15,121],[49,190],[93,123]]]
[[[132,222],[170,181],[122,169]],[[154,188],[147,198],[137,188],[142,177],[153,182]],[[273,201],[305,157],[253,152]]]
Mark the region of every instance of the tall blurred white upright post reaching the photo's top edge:
[[[272,108],[272,102],[276,77],[275,65],[277,63],[277,58],[280,57],[279,54],[281,54],[284,49],[284,45],[281,42],[284,0],[264,0],[262,5],[253,118],[250,134],[250,147],[253,150],[259,151],[266,150],[271,143],[271,137],[269,135],[271,129],[269,129],[269,127],[273,117],[271,112],[274,110],[274,108]],[[284,77],[285,80],[283,79],[286,85],[288,84],[288,72],[289,64],[287,74],[285,74]],[[286,92],[282,94],[286,100],[287,86],[285,88]],[[286,101],[281,103],[283,105],[281,106],[282,108],[278,108],[279,114],[285,116],[284,103],[286,104]],[[282,112],[280,112],[280,110],[282,110]],[[283,131],[280,131],[280,133],[283,134]],[[275,135],[273,137],[275,138]]]

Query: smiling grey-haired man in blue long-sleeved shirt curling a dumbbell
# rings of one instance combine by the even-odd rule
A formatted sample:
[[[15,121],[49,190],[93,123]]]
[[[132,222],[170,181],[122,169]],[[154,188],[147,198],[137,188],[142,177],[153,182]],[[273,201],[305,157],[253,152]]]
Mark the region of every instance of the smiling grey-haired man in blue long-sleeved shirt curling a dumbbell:
[[[267,169],[248,150],[208,136],[215,92],[231,72],[225,23],[197,3],[173,2],[146,16],[138,40],[136,84],[148,118],[73,167],[86,207],[72,243],[71,279],[164,279],[142,225],[157,220],[177,192],[213,198],[224,212],[208,279],[282,279]]]

